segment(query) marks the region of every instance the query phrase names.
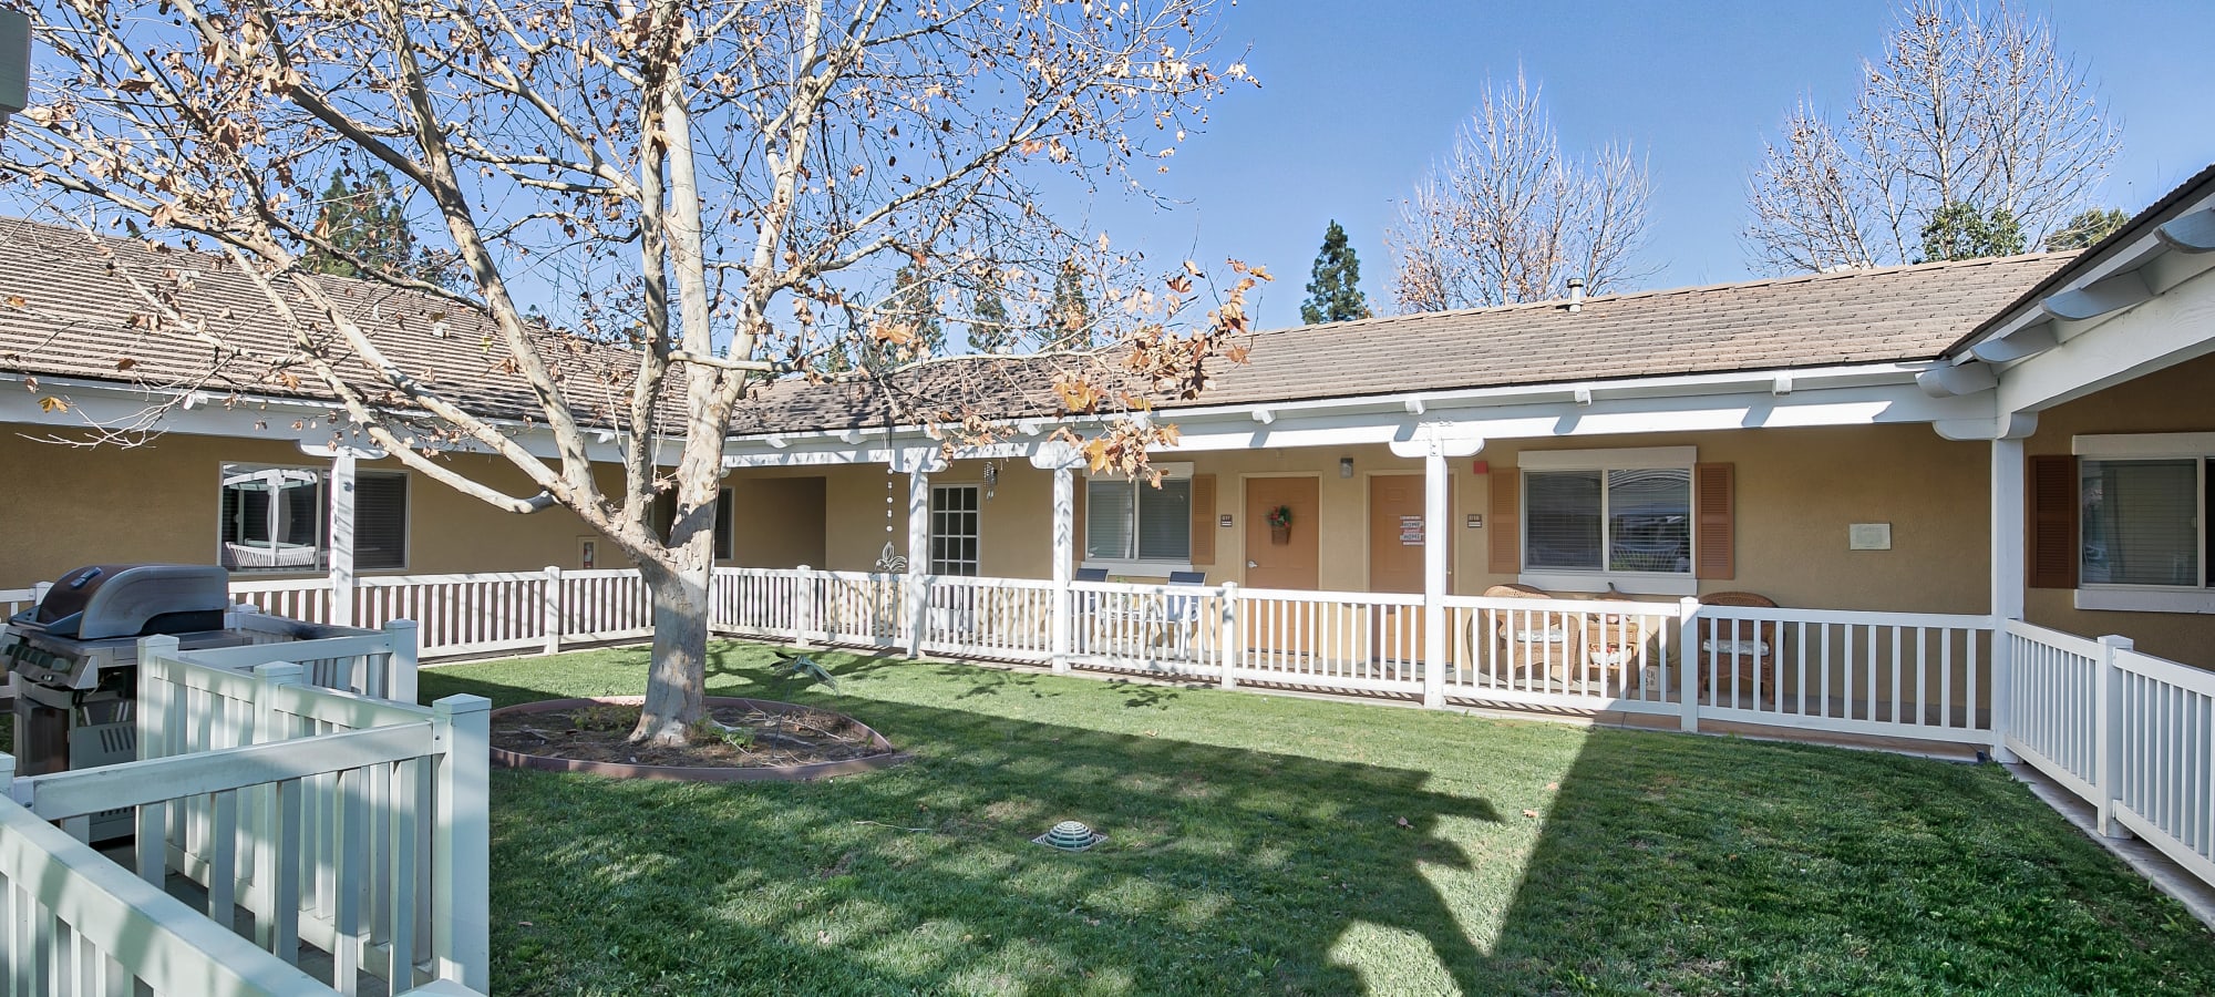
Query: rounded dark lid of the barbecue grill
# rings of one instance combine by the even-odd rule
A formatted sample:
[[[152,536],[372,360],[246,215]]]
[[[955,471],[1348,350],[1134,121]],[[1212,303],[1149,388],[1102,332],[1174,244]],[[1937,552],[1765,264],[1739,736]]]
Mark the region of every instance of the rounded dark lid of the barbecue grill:
[[[47,636],[75,636],[82,640],[142,636],[159,631],[164,616],[195,614],[190,625],[199,629],[204,614],[219,614],[230,607],[230,572],[215,565],[89,565],[62,576],[47,589],[47,598],[24,620],[44,629]]]

